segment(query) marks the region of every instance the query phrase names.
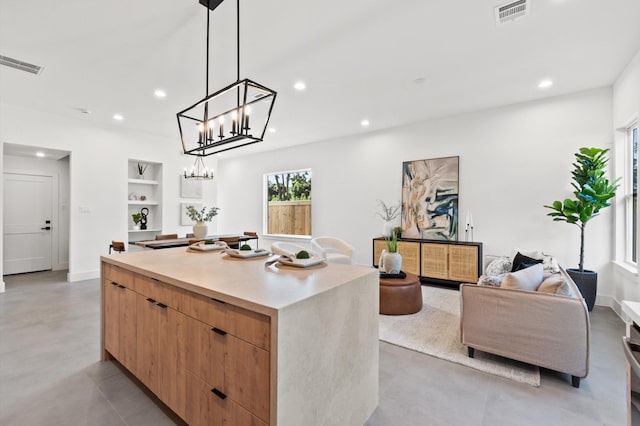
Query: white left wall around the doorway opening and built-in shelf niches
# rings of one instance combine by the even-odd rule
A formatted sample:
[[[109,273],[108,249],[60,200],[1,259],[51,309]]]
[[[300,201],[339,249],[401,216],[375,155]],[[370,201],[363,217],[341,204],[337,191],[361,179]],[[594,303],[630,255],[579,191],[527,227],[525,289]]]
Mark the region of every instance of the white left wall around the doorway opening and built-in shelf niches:
[[[179,174],[191,167],[193,157],[179,154],[177,130],[175,139],[163,139],[6,104],[0,104],[0,117],[3,143],[71,152],[69,281],[99,276],[100,256],[108,253],[111,241],[128,239],[129,158],[163,163],[163,232],[191,232],[191,227],[180,226]],[[37,125],[33,117],[38,117]],[[209,164],[215,167],[215,158],[207,160]],[[215,200],[215,184],[205,183],[203,204],[215,205]],[[80,206],[90,212],[81,213]],[[216,220],[210,232],[216,232]]]

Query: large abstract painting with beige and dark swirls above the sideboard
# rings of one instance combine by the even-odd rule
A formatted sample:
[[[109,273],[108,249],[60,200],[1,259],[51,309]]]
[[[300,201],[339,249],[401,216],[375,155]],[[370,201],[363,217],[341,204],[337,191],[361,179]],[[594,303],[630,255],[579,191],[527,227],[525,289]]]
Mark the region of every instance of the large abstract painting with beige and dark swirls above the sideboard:
[[[402,237],[458,239],[460,157],[402,163]]]

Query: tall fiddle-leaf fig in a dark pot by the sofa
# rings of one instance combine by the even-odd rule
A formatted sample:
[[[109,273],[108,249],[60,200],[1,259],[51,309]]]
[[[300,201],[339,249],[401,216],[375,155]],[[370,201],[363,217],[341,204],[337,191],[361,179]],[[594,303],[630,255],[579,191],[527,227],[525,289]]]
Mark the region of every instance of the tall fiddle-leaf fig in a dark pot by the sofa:
[[[587,223],[600,214],[600,211],[611,205],[610,200],[615,197],[618,181],[610,182],[606,176],[608,149],[580,148],[573,163],[573,182],[571,186],[575,198],[564,201],[554,201],[548,213],[554,221],[567,222],[580,229],[580,257],[577,269],[567,269],[567,273],[576,283],[582,296],[587,302],[589,311],[593,309],[598,288],[598,274],[584,269],[584,234]]]

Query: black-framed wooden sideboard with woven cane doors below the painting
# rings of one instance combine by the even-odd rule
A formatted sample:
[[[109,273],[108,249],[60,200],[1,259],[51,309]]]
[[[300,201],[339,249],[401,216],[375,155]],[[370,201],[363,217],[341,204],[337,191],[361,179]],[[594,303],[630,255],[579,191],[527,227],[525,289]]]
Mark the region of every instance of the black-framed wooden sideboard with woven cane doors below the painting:
[[[378,266],[384,238],[373,239],[373,265]],[[477,283],[482,275],[482,243],[398,238],[402,270],[439,284]]]

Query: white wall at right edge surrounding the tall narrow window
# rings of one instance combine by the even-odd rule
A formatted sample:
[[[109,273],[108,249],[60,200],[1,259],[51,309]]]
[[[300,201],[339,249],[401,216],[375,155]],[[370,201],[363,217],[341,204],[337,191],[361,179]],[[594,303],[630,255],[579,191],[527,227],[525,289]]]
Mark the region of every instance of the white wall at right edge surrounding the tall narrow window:
[[[624,127],[629,125],[633,119],[640,116],[640,51],[629,62],[625,70],[620,74],[613,86],[613,128],[615,135],[615,174],[623,176],[625,174],[625,135]],[[624,185],[624,184],[623,184]],[[623,194],[623,186],[618,191]],[[625,203],[622,196],[616,200],[615,219],[620,226],[616,226],[616,255],[615,258],[624,260],[624,223],[625,223]],[[640,224],[640,222],[639,222]],[[640,244],[640,238],[638,239]],[[638,245],[640,247],[640,245]],[[631,272],[621,263],[613,265],[613,281],[615,282],[612,297],[614,299],[614,309],[620,314],[620,302],[622,300],[640,301],[640,280],[637,270]]]

